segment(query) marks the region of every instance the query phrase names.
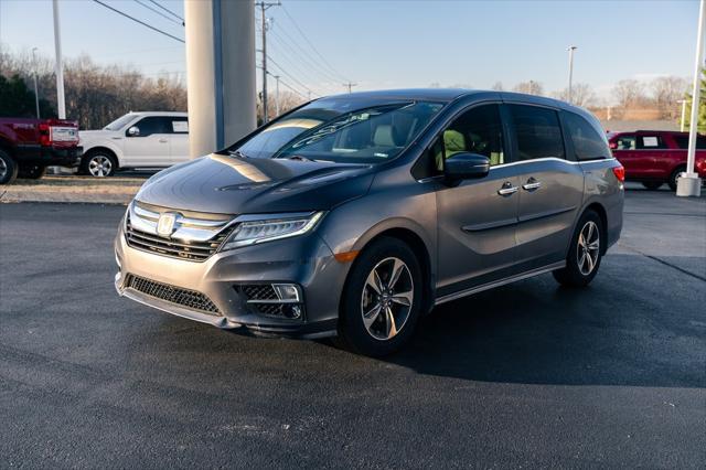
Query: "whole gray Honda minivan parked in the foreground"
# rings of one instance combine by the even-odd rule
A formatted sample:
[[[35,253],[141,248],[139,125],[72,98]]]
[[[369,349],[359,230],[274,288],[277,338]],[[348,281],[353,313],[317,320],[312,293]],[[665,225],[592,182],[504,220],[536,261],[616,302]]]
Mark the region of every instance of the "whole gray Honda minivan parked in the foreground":
[[[586,286],[622,227],[596,118],[512,93],[308,103],[150,178],[116,237],[118,292],[224,329],[384,355],[435,306],[553,273]]]

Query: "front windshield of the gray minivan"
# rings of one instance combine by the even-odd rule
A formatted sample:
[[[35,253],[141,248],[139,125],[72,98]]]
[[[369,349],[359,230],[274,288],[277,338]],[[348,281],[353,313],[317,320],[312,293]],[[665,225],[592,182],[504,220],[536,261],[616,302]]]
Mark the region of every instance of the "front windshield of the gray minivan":
[[[351,110],[356,104],[342,98],[313,102],[232,150],[253,158],[385,161],[407,147],[443,107],[441,103],[404,102]]]

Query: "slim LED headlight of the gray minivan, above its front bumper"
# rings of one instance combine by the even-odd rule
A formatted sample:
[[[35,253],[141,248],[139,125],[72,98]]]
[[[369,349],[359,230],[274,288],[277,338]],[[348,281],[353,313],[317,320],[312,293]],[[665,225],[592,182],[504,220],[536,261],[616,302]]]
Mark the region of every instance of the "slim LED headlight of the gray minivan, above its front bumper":
[[[301,235],[311,231],[322,216],[323,212],[277,218],[265,218],[267,216],[264,215],[260,220],[240,222],[221,249],[233,249]]]

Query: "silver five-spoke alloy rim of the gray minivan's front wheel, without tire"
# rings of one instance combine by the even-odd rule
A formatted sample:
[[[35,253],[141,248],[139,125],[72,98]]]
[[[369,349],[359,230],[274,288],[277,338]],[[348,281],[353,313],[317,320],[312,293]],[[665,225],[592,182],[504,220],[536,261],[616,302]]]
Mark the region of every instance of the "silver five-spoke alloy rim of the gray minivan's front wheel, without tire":
[[[414,302],[414,281],[407,265],[389,257],[371,270],[363,287],[361,314],[376,340],[391,340],[407,323]]]

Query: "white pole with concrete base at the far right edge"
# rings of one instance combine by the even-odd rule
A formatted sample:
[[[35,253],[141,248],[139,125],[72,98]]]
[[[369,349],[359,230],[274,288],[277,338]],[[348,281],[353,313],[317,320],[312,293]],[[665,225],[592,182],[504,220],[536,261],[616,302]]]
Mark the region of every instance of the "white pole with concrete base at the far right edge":
[[[700,77],[704,66],[704,25],[706,23],[706,0],[700,1],[698,12],[698,33],[696,36],[696,62],[694,63],[694,88],[692,90],[692,118],[688,128],[688,152],[686,153],[686,173],[677,180],[677,196],[700,195],[702,182],[698,174],[694,173],[694,160],[696,157],[696,138],[698,129],[698,108],[700,99]]]

